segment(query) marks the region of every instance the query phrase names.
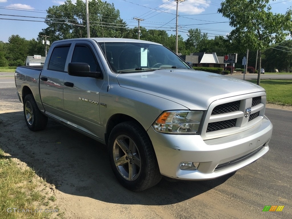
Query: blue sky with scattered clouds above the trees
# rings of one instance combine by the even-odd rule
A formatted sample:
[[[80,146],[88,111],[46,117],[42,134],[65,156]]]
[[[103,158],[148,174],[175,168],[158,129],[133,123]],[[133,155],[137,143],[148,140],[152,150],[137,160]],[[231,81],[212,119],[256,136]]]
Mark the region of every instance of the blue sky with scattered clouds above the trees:
[[[74,3],[76,0],[72,0]],[[85,1],[85,0],[84,0]],[[236,1],[236,0],[235,0]],[[120,11],[120,17],[129,28],[140,26],[146,29],[161,29],[175,35],[176,2],[174,0],[108,0]],[[187,39],[189,29],[201,29],[208,38],[226,36],[231,32],[229,20],[217,13],[222,0],[185,0],[178,4],[178,34]],[[46,28],[43,22],[46,10],[53,5],[63,4],[59,0],[0,0],[0,41],[8,42],[11,35],[20,35],[27,40],[36,39]],[[273,13],[285,14],[292,0],[270,1]],[[20,17],[26,16],[26,17]],[[38,17],[38,18],[29,18]],[[14,19],[14,20],[11,20]],[[16,19],[16,20],[15,20]],[[33,20],[33,21],[21,21]],[[39,22],[37,22],[39,21]],[[292,38],[289,38],[292,39]]]

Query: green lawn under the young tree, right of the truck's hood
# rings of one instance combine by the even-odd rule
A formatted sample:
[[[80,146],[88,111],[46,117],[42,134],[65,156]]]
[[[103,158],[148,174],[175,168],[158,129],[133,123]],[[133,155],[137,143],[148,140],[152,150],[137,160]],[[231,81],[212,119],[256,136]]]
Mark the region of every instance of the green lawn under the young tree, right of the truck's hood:
[[[267,92],[267,103],[292,106],[292,80],[261,79],[260,86]]]

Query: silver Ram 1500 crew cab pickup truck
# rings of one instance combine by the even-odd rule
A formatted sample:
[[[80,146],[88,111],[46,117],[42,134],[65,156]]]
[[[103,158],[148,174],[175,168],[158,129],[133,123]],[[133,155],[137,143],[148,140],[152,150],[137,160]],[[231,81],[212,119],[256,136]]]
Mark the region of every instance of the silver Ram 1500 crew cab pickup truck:
[[[30,130],[49,117],[107,145],[114,174],[132,191],[162,175],[220,177],[269,150],[263,88],[196,71],[157,43],[56,41],[43,68],[18,67],[15,83]]]

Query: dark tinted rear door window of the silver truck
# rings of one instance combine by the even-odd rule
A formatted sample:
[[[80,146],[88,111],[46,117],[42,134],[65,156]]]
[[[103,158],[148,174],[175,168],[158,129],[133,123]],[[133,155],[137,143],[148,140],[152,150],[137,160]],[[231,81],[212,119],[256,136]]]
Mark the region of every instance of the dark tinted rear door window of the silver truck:
[[[49,61],[48,69],[64,72],[70,45],[55,47]]]

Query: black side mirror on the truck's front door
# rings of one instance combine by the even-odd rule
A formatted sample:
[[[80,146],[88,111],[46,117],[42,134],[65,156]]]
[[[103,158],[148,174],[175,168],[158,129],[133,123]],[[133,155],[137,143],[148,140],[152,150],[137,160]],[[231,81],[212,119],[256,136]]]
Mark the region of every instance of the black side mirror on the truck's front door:
[[[91,77],[103,79],[102,72],[91,72],[90,66],[84,62],[70,62],[68,64],[68,74],[77,77]]]

